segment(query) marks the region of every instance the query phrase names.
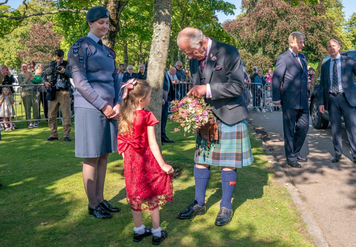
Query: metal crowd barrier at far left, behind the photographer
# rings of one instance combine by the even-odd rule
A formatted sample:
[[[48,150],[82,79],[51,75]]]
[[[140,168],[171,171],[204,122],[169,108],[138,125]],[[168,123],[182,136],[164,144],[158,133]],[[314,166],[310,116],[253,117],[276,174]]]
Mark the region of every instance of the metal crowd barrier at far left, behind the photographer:
[[[22,87],[27,87],[27,86],[33,86],[33,88],[31,90],[22,90]],[[19,122],[37,123],[38,121],[41,121],[41,120],[48,120],[48,118],[45,118],[45,116],[44,116],[45,115],[44,111],[42,111],[42,112],[40,111],[41,107],[42,107],[42,110],[44,110],[43,105],[40,103],[40,97],[42,96],[43,101],[45,101],[46,96],[44,95],[44,92],[36,92],[35,91],[36,86],[37,86],[37,88],[38,88],[38,86],[45,87],[44,84],[25,84],[25,85],[15,84],[14,86],[0,85],[1,91],[2,91],[2,87],[13,87],[15,90],[15,92],[13,93],[14,101],[15,101],[13,106],[14,106],[15,111],[14,111],[14,113],[11,113],[11,115],[13,116],[13,119],[12,120],[7,119],[7,121],[5,121],[5,118],[0,118],[0,124],[19,123]],[[37,91],[38,91],[38,89],[37,89]],[[30,107],[27,107],[30,109],[29,114],[27,114],[27,116],[26,116],[25,106],[23,105],[24,102],[30,103],[30,105],[31,105]],[[49,101],[49,104],[50,104],[50,101]],[[48,107],[49,107],[49,104],[48,104]],[[2,111],[1,105],[0,105],[0,111]],[[36,112],[37,112],[37,116],[35,116]],[[43,118],[41,118],[41,115],[43,116]],[[27,119],[26,119],[26,117],[27,117]],[[57,119],[61,120],[61,123],[63,124],[61,107],[59,107]]]

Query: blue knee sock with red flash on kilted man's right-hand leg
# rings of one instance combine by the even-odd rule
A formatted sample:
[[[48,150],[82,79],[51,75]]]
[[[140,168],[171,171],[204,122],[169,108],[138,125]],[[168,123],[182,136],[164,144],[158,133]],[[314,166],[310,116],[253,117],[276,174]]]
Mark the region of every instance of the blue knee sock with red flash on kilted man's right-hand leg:
[[[229,171],[221,170],[221,187],[223,187],[223,198],[220,202],[220,208],[225,207],[227,209],[232,209],[231,198],[232,192],[234,192],[236,178],[236,169]]]

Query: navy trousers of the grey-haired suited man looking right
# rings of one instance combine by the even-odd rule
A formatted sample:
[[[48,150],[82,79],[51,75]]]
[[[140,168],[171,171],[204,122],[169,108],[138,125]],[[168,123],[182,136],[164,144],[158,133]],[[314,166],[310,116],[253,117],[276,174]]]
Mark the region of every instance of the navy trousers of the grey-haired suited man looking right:
[[[284,150],[287,161],[296,161],[309,129],[309,109],[283,107]]]

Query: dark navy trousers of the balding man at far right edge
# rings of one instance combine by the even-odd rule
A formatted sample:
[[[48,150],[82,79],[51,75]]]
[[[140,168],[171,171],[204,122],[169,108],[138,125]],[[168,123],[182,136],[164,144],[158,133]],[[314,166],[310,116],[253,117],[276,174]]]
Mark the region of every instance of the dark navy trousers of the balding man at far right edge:
[[[347,138],[349,139],[352,157],[356,157],[356,109],[347,101],[345,95],[329,93],[329,118],[331,135],[336,154],[342,154],[341,115],[344,118]]]

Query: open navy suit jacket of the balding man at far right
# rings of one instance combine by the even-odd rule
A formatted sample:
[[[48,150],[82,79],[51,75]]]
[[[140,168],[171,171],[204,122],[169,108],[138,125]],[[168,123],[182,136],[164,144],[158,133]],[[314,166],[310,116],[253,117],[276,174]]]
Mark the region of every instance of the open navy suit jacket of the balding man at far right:
[[[341,86],[345,92],[346,100],[351,106],[356,106],[356,62],[352,57],[341,55]],[[319,84],[319,106],[324,106],[328,111],[330,87],[330,59],[321,65],[320,84]]]

